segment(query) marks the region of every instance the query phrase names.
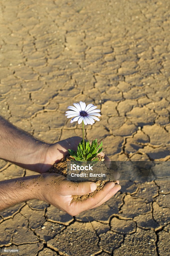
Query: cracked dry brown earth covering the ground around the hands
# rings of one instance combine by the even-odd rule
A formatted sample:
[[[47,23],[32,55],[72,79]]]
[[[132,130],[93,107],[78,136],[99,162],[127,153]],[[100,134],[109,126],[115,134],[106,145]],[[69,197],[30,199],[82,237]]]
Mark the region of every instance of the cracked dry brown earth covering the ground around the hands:
[[[2,0],[1,115],[52,143],[81,136],[68,105],[93,103],[101,121],[86,137],[113,161],[170,161],[169,11],[168,0]],[[34,174],[0,166],[1,180]],[[120,184],[76,217],[38,200],[1,212],[1,255],[169,255],[169,181]]]

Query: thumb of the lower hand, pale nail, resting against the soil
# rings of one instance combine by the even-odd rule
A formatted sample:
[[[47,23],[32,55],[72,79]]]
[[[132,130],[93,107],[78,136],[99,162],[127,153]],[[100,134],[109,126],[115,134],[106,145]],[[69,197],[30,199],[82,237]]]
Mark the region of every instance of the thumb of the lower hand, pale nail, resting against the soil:
[[[72,182],[64,180],[60,184],[60,193],[63,196],[68,195],[86,195],[96,190],[97,185],[94,182]]]

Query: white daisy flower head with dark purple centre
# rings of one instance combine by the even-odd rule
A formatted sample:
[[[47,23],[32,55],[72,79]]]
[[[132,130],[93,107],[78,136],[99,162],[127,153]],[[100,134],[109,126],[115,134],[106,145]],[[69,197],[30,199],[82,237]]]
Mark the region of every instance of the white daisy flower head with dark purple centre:
[[[70,123],[78,121],[78,124],[94,124],[94,120],[100,121],[96,116],[101,116],[98,112],[100,109],[96,109],[97,106],[93,104],[88,104],[86,106],[85,102],[80,101],[79,103],[73,103],[73,106],[68,106],[69,111],[66,111],[67,118],[72,118]]]

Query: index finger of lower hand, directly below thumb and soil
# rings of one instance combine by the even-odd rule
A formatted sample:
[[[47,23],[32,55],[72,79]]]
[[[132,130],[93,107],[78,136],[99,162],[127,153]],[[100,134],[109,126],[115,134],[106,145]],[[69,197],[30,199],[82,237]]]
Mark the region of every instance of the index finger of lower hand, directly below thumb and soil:
[[[72,208],[74,215],[79,214],[82,211],[86,211],[95,205],[98,205],[100,201],[102,201],[107,194],[110,192],[110,190],[115,186],[114,182],[108,182],[104,185],[104,187],[95,194],[94,197],[88,198],[84,200],[83,202],[72,202],[70,204],[70,207]],[[118,185],[119,186],[119,185]]]

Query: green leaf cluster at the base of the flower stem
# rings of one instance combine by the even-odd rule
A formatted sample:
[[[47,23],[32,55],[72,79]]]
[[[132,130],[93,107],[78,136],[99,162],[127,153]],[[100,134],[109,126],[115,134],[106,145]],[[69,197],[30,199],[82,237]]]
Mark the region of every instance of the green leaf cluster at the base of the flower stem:
[[[100,143],[100,145],[98,145],[97,139],[95,139],[92,141],[91,145],[90,145],[89,140],[84,141],[84,143],[85,143],[85,149],[84,149],[84,145],[83,145],[83,140],[81,140],[81,142],[79,143],[79,145],[77,147],[77,152],[72,149],[69,149],[68,153],[76,161],[92,161],[92,162],[98,161],[98,157],[96,157],[96,156],[103,150],[102,142]]]

